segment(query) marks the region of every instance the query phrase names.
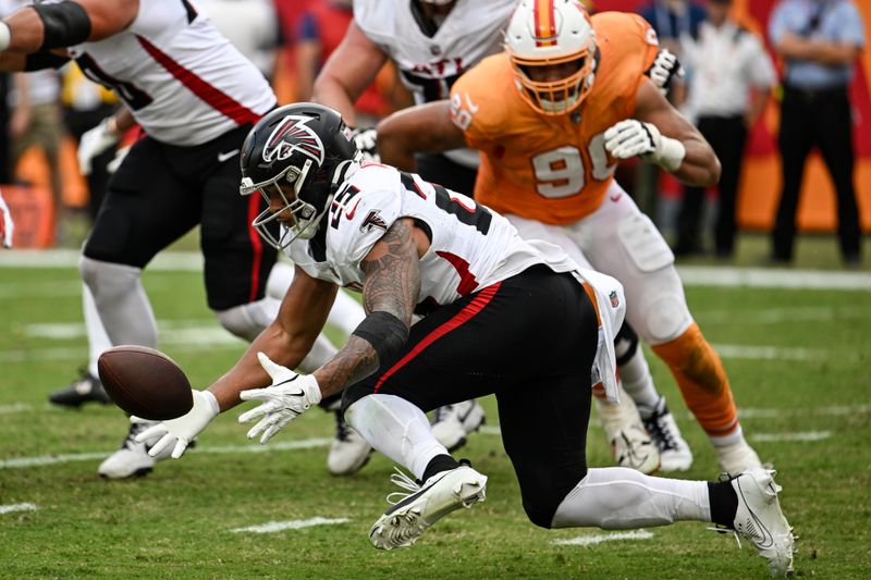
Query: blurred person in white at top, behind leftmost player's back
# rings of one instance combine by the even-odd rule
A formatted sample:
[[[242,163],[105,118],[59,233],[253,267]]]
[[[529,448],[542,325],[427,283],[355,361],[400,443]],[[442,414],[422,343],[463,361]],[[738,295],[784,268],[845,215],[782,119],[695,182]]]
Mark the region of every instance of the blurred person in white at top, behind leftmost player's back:
[[[272,0],[198,0],[218,30],[263,73],[275,72],[281,25]]]

